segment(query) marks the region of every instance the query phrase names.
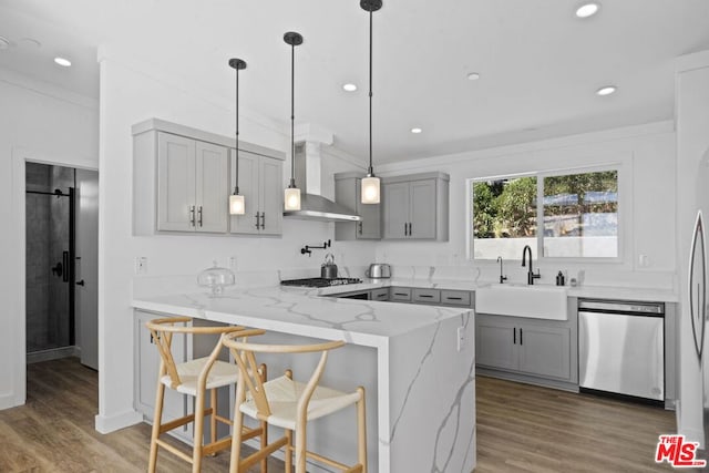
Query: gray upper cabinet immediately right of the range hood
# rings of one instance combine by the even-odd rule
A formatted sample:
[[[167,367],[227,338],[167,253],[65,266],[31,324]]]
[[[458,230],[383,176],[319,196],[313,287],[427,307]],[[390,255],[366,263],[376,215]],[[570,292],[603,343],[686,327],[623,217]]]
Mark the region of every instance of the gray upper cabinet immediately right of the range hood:
[[[336,240],[381,238],[381,204],[361,203],[361,182],[362,176],[358,173],[335,175],[335,202],[362,217],[361,222],[336,222]]]

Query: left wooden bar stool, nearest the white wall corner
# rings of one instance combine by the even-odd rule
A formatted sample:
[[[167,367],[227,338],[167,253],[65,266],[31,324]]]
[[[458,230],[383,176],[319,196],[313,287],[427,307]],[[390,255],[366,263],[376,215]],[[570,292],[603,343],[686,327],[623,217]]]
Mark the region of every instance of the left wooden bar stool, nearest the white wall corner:
[[[236,383],[239,370],[233,363],[217,360],[219,352],[224,348],[222,338],[219,338],[219,341],[208,357],[194,359],[184,363],[175,363],[171,346],[175,333],[184,333],[185,336],[219,336],[244,331],[245,329],[244,327],[225,326],[192,327],[186,325],[188,322],[192,322],[191,317],[171,317],[154,319],[145,323],[153,336],[161,359],[157,376],[157,392],[155,394],[155,415],[151,435],[151,455],[148,463],[148,472],[151,473],[155,472],[158,446],[192,463],[193,472],[199,472],[203,456],[214,454],[232,445],[232,435],[217,440],[217,422],[233,425],[232,420],[217,414],[217,389]],[[256,378],[265,380],[265,366],[257,369],[255,373]],[[162,415],[165,388],[195,398],[194,414],[163,423]],[[205,409],[207,390],[210,391],[209,409]],[[204,444],[204,422],[207,415],[210,417],[210,441]],[[192,456],[160,439],[160,435],[163,433],[181,428],[189,422],[194,422]],[[261,422],[258,429],[246,429],[239,433],[243,440],[260,435],[261,444],[265,445],[268,441],[266,422]],[[266,472],[266,461],[261,462],[261,472]]]

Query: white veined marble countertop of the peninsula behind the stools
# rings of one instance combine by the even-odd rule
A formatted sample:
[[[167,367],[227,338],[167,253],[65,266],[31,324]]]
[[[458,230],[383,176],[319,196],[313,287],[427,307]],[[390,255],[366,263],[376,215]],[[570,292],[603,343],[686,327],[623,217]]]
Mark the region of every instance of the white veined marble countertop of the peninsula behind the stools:
[[[348,285],[347,290],[372,287],[377,286]],[[133,307],[369,347],[380,347],[389,338],[469,312],[464,308],[338,299],[321,295],[321,289],[276,286],[226,290],[218,298],[186,294],[134,299]]]

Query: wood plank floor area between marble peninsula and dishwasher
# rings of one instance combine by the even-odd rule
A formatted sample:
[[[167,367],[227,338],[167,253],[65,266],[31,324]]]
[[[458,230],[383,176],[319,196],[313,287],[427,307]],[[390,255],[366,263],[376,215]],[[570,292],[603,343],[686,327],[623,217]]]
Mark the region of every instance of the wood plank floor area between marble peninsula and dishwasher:
[[[675,412],[479,377],[476,472],[653,472]]]

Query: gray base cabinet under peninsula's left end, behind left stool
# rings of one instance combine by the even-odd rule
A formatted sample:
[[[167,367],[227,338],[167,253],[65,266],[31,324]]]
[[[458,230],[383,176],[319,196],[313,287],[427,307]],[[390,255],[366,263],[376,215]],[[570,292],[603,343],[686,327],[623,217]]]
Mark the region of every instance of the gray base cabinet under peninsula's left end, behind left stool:
[[[155,393],[157,389],[157,373],[160,369],[160,354],[157,347],[153,343],[151,332],[145,328],[145,322],[161,317],[157,313],[136,310],[134,315],[134,408],[143,414],[143,419],[153,422],[155,410]],[[163,316],[164,317],[164,316]],[[187,360],[188,351],[192,350],[188,340],[184,336],[173,338],[172,351],[176,362]],[[192,413],[193,405],[191,399],[185,394],[179,394],[172,389],[165,390],[163,403],[163,419],[176,419]],[[192,424],[184,425],[171,432],[174,436],[192,443]]]

